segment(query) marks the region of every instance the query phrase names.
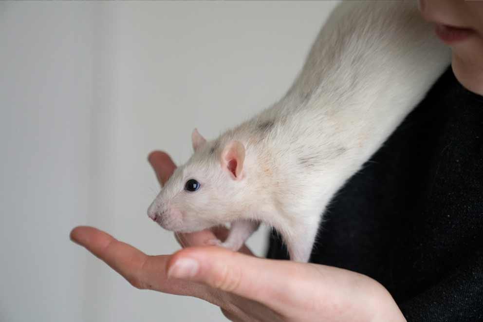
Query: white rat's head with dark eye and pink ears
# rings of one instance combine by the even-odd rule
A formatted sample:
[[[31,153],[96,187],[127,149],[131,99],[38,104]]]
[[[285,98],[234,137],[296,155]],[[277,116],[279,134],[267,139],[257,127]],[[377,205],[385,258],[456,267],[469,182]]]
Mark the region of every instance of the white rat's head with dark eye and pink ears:
[[[239,141],[206,142],[195,129],[194,153],[177,168],[148,209],[168,230],[189,232],[236,218],[246,200],[245,147]]]

